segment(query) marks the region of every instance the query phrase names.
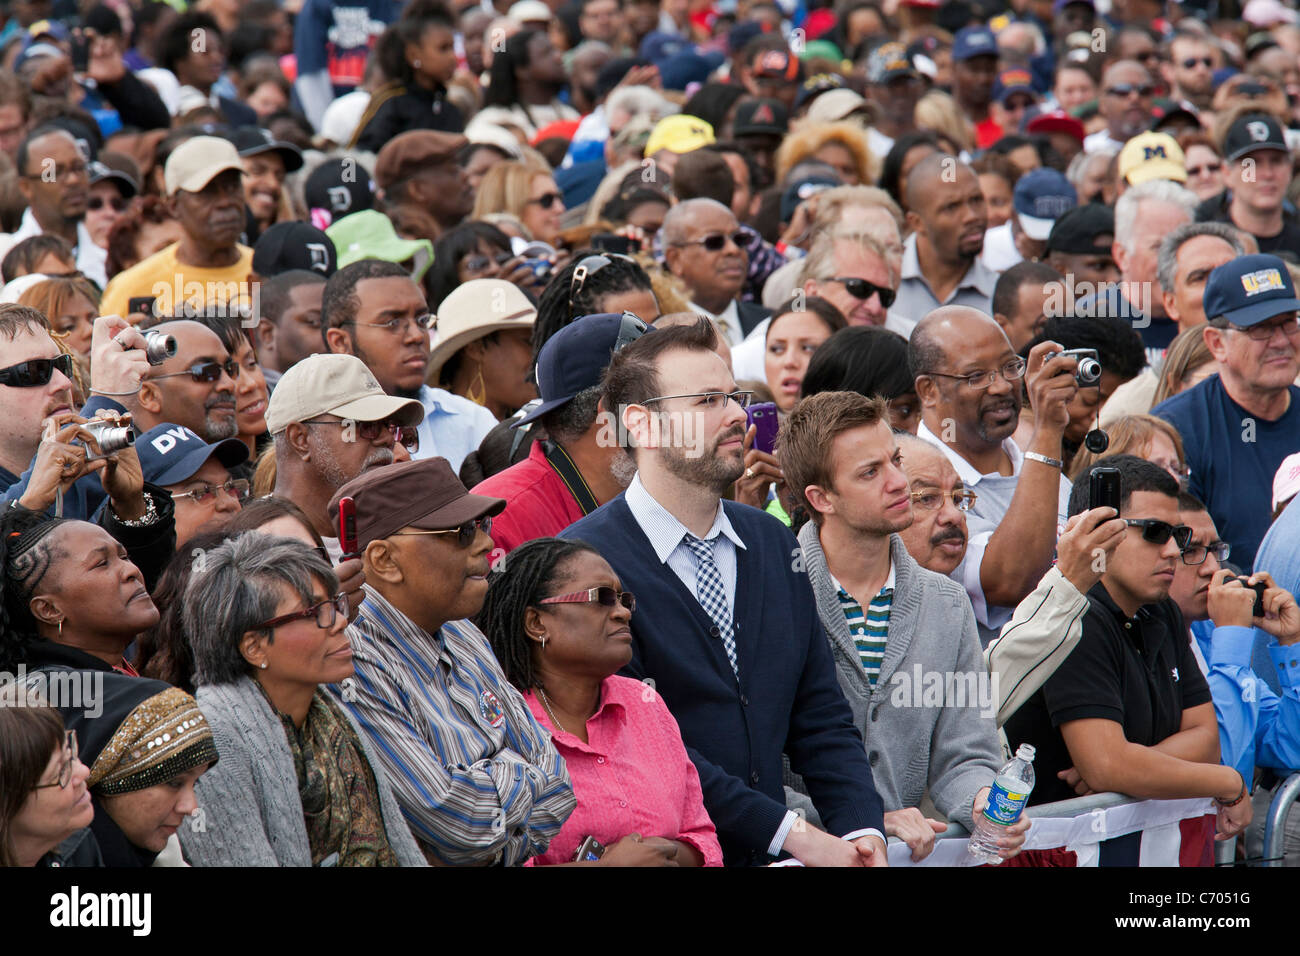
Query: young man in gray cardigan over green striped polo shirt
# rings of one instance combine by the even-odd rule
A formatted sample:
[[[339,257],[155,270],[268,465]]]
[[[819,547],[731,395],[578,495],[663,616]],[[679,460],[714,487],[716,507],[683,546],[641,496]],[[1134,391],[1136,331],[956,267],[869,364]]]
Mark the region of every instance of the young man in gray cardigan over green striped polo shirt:
[[[800,548],[884,801],[885,835],[922,860],[948,829],[922,814],[922,796],[972,827],[1001,763],[993,711],[980,710],[975,692],[987,680],[975,615],[962,587],[920,567],[898,536],[931,492],[911,490],[883,398],[805,398],[783,424],[780,447],[785,480],[812,515]],[[956,675],[971,693],[920,706],[914,674],[923,672]],[[793,790],[790,803],[803,806],[802,780]],[[998,839],[1004,858],[1019,852],[1026,830],[1027,819]]]

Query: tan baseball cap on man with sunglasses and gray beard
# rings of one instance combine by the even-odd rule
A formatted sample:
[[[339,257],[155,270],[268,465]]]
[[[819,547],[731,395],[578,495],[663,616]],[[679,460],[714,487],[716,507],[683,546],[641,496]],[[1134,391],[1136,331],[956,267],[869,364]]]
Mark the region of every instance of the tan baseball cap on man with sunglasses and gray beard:
[[[276,384],[266,406],[266,431],[278,434],[294,421],[338,415],[354,421],[394,419],[403,425],[424,421],[424,406],[413,398],[385,394],[384,386],[355,355],[308,355]]]

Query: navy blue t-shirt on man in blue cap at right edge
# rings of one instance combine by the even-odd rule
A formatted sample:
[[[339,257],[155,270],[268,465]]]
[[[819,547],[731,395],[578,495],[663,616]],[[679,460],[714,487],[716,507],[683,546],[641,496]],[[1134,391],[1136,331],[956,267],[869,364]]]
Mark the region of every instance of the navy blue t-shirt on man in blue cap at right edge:
[[[1150,410],[1183,438],[1188,490],[1205,502],[1232,561],[1245,570],[1273,519],[1273,476],[1282,459],[1300,450],[1300,389],[1290,386],[1291,405],[1275,421],[1251,415],[1212,375]]]

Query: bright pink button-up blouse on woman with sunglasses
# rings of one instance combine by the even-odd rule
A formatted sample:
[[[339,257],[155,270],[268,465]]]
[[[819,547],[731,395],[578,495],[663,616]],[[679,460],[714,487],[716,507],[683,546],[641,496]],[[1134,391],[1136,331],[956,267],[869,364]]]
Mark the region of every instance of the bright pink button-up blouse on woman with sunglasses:
[[[572,862],[588,836],[612,847],[628,834],[641,834],[681,840],[699,851],[705,866],[723,865],[699,773],[686,756],[677,722],[654,689],[629,678],[606,678],[601,706],[586,722],[586,744],[555,727],[533,691],[524,700],[551,732],[577,797],[546,853],[529,864]]]

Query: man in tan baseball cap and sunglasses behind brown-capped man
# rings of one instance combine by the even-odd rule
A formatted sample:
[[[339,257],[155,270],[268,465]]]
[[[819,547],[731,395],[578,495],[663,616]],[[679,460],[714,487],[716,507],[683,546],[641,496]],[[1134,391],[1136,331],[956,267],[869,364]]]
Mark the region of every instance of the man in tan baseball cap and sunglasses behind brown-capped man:
[[[266,433],[276,442],[272,494],[307,514],[337,561],[330,498],[359,475],[391,464],[398,428],[422,418],[413,398],[384,394],[355,355],[308,355],[285,372],[266,406]]]

